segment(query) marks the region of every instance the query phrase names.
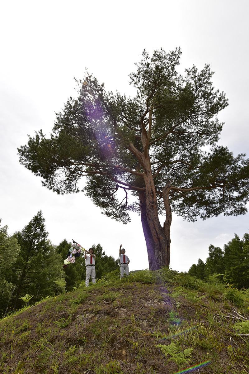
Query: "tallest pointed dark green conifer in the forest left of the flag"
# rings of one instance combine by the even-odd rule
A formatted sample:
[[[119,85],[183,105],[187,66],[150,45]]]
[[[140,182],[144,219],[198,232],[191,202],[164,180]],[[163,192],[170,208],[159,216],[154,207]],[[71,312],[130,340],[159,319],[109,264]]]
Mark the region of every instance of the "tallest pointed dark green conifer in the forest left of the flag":
[[[39,211],[21,232],[14,234],[21,247],[7,273],[9,281],[16,284],[11,298],[14,309],[22,306],[20,297],[25,294],[34,295],[32,301],[54,294],[54,281],[64,278],[60,257],[47,239],[44,221]]]

